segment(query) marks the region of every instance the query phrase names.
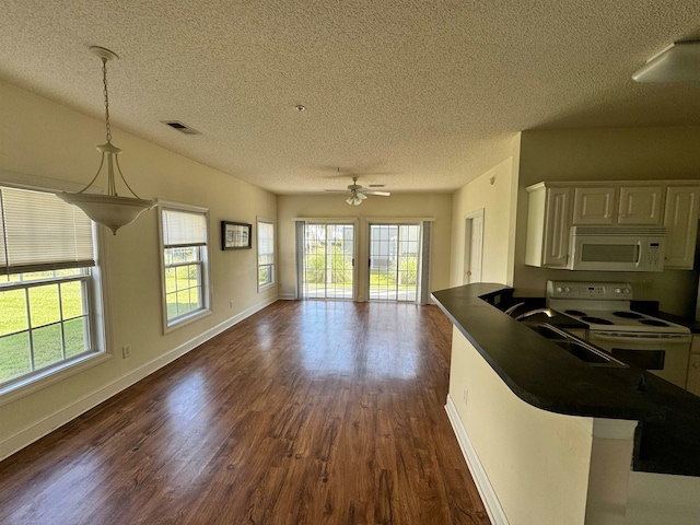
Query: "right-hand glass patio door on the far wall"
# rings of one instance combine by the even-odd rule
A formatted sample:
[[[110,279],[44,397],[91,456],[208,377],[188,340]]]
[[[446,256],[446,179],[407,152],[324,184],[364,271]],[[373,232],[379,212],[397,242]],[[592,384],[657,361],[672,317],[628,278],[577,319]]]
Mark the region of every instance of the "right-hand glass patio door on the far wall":
[[[419,224],[370,224],[370,301],[418,300]]]

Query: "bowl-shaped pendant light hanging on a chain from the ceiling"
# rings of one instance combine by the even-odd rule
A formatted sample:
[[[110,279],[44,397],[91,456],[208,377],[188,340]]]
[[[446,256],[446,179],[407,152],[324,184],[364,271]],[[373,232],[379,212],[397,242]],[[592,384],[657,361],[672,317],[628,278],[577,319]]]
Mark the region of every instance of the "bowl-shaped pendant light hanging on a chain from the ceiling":
[[[107,226],[109,230],[112,230],[112,233],[116,235],[117,230],[119,230],[121,226],[126,226],[127,224],[132,223],[145,210],[150,210],[151,208],[153,208],[155,206],[155,201],[141,199],[131,189],[126,178],[124,178],[124,174],[121,173],[121,168],[119,167],[118,155],[121,153],[121,150],[112,143],[112,129],[109,127],[109,95],[107,93],[107,62],[113,58],[119,57],[115,52],[110,51],[109,49],[105,49],[104,47],[93,46],[90,48],[90,50],[102,60],[102,79],[105,95],[105,128],[107,132],[107,142],[97,145],[97,151],[102,153],[102,161],[100,162],[97,173],[90,182],[90,184],[88,184],[88,186],[75,194],[61,192],[57,195],[66,202],[74,205],[83,210],[83,212],[97,224]],[[107,170],[107,194],[86,194],[85,190],[88,190],[100,176],[100,173],[105,165],[105,161]],[[114,177],[115,166],[117,168],[117,172],[119,172],[119,176],[121,177],[124,185],[133,197],[125,197],[117,194]]]

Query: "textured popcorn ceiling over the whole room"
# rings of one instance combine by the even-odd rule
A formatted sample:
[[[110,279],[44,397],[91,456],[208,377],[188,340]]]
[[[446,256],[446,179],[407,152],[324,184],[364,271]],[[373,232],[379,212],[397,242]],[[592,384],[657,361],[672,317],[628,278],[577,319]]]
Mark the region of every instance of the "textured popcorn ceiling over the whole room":
[[[448,191],[521,130],[700,125],[700,82],[631,80],[700,37],[699,15],[700,0],[0,0],[0,79],[101,119],[88,47],[104,46],[121,57],[113,124],[172,151],[278,194],[343,188],[336,167]]]

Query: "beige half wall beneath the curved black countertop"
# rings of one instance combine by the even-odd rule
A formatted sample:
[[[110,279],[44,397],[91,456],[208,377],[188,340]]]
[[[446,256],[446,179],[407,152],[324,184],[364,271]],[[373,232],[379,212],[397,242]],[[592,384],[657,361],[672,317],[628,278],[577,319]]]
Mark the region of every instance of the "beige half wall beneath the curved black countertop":
[[[511,525],[583,525],[592,418],[527,405],[457,328],[450,398]]]

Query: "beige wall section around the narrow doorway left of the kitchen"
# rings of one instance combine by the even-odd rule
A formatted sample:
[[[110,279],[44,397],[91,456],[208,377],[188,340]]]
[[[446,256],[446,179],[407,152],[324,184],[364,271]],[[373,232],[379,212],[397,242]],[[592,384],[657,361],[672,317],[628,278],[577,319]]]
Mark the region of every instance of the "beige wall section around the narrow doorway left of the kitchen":
[[[515,166],[516,167],[516,166]],[[513,282],[517,175],[509,158],[453,194],[450,285],[464,284],[466,215],[483,210],[481,282]]]

